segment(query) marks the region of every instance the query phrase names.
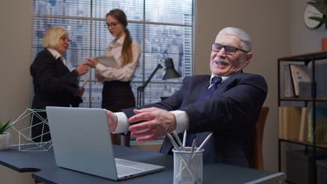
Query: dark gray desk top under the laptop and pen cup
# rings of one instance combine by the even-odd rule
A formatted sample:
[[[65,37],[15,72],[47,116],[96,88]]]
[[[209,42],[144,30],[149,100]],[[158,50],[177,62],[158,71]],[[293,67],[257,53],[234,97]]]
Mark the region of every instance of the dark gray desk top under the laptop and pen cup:
[[[45,183],[173,183],[173,156],[136,148],[114,146],[117,158],[163,165],[165,170],[124,181],[83,174],[57,167],[53,151],[19,152],[16,147],[0,151],[0,164],[18,172],[34,172],[32,177]],[[284,183],[284,174],[233,167],[226,164],[205,164],[203,183]]]

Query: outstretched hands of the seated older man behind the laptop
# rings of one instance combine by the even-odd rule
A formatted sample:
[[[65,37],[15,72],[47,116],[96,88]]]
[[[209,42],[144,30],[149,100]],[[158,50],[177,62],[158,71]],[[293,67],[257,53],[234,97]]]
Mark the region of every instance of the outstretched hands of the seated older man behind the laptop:
[[[129,123],[133,124],[138,121],[144,121],[143,123],[129,126],[131,137],[135,137],[136,141],[155,140],[165,136],[167,133],[173,132],[177,127],[175,116],[163,109],[156,107],[134,109],[134,113],[136,115],[129,118]],[[115,132],[117,116],[110,111],[107,111],[107,116],[110,130]]]

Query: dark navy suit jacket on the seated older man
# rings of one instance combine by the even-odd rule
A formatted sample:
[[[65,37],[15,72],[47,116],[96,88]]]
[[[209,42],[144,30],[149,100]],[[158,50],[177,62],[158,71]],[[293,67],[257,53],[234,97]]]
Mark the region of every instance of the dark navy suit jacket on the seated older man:
[[[255,123],[268,91],[266,81],[260,75],[236,73],[220,84],[210,99],[196,102],[208,89],[209,81],[210,75],[185,77],[182,88],[174,95],[145,107],[187,112],[189,133],[213,132],[204,147],[205,162],[247,167]],[[123,112],[133,116],[132,109]],[[166,137],[161,153],[168,153],[171,148]]]

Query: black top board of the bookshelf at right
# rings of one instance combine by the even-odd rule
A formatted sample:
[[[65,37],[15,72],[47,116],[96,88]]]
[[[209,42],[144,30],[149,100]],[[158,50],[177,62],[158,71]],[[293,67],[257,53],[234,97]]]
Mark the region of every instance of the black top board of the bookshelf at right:
[[[320,51],[320,52],[311,52],[307,54],[299,54],[299,55],[293,55],[293,56],[285,56],[281,57],[278,60],[280,61],[312,61],[314,60],[320,60],[320,59],[326,59],[327,58],[327,52],[326,51]]]

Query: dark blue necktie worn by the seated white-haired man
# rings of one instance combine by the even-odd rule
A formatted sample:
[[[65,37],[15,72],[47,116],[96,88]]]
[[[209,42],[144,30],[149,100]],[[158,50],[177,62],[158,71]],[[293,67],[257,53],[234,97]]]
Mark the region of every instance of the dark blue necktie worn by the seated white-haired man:
[[[212,93],[214,93],[215,90],[217,89],[218,84],[220,84],[222,82],[222,79],[221,79],[221,77],[212,77],[211,82],[212,82],[212,86],[210,86],[209,89],[205,89],[205,91],[203,91],[203,93],[201,93],[201,95],[198,97],[196,102],[208,100],[211,97]],[[210,132],[202,132],[202,133],[196,134],[196,146],[200,146],[201,143],[204,141],[205,137],[209,134],[210,134]],[[187,142],[186,142],[185,146],[191,146],[194,137],[195,137],[195,134],[187,135]]]

